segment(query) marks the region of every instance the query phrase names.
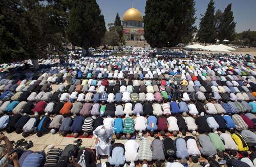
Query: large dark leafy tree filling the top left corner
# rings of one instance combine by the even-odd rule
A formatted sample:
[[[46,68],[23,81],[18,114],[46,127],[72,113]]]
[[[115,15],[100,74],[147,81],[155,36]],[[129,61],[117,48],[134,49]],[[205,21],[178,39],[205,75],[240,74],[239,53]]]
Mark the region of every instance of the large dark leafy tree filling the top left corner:
[[[66,11],[60,12],[54,2],[44,5],[39,0],[1,1],[1,58],[10,55],[3,59],[5,62],[38,59],[61,50]]]

